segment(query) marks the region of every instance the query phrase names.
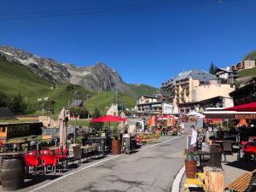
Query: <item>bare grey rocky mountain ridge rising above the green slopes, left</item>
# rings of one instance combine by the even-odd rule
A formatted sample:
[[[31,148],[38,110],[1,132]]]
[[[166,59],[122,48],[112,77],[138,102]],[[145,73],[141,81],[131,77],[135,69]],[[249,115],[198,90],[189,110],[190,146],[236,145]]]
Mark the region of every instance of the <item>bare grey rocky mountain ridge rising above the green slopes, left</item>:
[[[114,69],[99,62],[94,66],[76,67],[53,59],[32,55],[22,49],[0,46],[0,55],[8,61],[15,61],[29,67],[33,73],[47,80],[50,84],[69,82],[89,90],[109,91],[129,89]]]

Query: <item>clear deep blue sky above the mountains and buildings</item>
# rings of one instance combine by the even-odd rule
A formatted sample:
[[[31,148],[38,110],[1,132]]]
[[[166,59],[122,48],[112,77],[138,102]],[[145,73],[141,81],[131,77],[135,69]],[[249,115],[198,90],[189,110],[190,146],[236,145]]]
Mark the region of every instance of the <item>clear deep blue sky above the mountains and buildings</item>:
[[[0,44],[79,66],[103,61],[127,83],[159,87],[183,70],[208,70],[211,61],[225,67],[256,49],[254,0],[0,4]],[[82,14],[69,15],[72,10]]]

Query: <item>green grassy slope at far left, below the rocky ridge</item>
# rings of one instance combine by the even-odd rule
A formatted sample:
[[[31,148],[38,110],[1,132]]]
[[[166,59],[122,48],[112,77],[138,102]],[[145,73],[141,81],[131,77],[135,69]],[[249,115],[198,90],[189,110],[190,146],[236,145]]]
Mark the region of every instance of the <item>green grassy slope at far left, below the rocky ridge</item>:
[[[27,67],[0,58],[0,87],[7,96],[15,96],[20,93],[22,96],[26,96],[27,102],[38,107],[40,107],[38,98],[49,96],[50,100],[55,101],[54,107],[57,111],[67,106],[68,101],[72,101],[75,90],[84,95],[95,95],[94,92],[73,84],[61,84],[55,90],[51,90],[50,86],[48,82],[32,73]]]

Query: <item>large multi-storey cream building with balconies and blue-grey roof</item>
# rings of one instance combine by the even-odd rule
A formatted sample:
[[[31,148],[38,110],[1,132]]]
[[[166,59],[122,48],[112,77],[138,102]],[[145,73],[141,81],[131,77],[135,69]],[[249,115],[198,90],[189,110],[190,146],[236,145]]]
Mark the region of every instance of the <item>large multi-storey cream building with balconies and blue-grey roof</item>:
[[[218,81],[218,78],[203,70],[191,69],[179,73],[176,79],[170,79],[163,83],[160,94],[163,101],[171,102],[173,105],[192,102],[192,90],[200,85],[209,84],[210,81]]]

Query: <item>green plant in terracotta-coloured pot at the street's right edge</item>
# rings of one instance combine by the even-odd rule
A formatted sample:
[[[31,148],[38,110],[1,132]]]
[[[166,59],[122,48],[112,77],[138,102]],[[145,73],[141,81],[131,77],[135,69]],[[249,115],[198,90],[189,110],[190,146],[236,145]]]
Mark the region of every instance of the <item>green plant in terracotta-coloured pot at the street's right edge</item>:
[[[187,178],[195,178],[195,173],[197,172],[196,160],[195,160],[195,148],[185,149],[184,155],[185,160],[185,173]]]

